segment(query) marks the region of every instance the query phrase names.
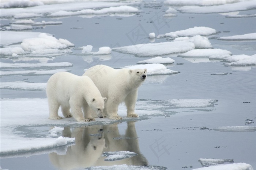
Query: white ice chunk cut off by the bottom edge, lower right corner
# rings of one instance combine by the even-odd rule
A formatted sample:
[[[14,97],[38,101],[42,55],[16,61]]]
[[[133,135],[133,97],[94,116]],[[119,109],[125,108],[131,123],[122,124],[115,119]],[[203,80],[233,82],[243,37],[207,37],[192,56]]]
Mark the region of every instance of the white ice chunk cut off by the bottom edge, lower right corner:
[[[232,164],[225,164],[225,165],[216,165],[216,166],[208,166],[197,168],[193,170],[253,170],[252,166],[247,163],[232,163]]]

